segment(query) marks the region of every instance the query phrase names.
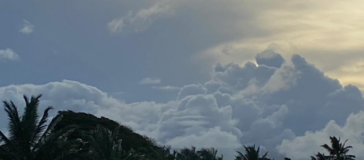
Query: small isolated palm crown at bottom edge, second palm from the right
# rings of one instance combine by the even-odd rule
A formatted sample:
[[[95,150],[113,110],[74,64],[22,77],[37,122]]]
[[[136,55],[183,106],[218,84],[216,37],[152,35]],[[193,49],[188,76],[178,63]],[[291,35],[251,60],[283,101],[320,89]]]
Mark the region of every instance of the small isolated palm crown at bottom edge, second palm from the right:
[[[259,157],[260,147],[255,149],[255,145],[248,147],[244,146],[244,148],[245,154],[237,151],[239,155],[235,156],[235,160],[265,160],[268,155],[268,152],[266,152],[262,157]]]

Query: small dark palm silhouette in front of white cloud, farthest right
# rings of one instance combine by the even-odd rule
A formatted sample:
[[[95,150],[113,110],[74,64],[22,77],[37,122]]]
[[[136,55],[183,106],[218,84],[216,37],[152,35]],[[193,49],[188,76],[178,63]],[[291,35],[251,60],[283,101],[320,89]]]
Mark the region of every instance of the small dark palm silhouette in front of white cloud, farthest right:
[[[354,155],[347,155],[349,149],[353,148],[352,146],[345,146],[346,140],[344,144],[340,143],[340,137],[337,139],[335,136],[330,137],[331,147],[327,144],[322,145],[321,147],[325,148],[329,153],[329,160],[355,160]]]

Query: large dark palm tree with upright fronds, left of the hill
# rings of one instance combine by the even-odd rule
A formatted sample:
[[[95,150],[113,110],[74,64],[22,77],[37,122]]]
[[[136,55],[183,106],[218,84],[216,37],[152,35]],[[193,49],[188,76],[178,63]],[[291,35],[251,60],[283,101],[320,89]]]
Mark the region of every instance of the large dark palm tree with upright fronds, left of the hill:
[[[5,112],[9,119],[8,137],[0,131],[0,160],[55,160],[62,157],[66,149],[66,138],[76,128],[75,126],[54,131],[55,125],[62,119],[57,115],[49,125],[47,107],[39,119],[38,106],[41,95],[32,96],[29,100],[25,95],[25,108],[19,116],[17,107],[10,101],[3,101]]]

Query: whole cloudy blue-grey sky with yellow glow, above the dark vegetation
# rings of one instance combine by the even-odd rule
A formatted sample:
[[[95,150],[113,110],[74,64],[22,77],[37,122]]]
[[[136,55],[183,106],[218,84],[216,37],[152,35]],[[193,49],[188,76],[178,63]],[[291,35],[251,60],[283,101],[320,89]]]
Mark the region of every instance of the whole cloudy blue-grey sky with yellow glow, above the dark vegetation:
[[[0,99],[227,158],[304,160],[337,136],[360,159],[363,18],[361,0],[0,0]]]

